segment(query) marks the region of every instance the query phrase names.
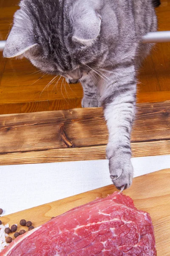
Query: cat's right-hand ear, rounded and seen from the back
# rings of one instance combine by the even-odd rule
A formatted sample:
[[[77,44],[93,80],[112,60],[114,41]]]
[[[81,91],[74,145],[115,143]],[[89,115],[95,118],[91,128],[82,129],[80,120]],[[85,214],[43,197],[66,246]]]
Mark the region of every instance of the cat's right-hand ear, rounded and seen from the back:
[[[72,39],[82,44],[91,44],[100,34],[101,16],[88,4],[76,6],[75,9],[76,12],[74,12],[72,16]]]

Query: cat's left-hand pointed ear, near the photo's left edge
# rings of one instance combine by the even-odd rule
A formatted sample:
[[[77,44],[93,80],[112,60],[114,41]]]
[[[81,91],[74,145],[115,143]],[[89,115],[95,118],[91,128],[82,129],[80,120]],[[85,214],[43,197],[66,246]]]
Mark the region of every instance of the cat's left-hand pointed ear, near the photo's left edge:
[[[28,16],[22,10],[18,10],[14,15],[14,25],[6,41],[3,56],[6,58],[19,56],[36,45]]]

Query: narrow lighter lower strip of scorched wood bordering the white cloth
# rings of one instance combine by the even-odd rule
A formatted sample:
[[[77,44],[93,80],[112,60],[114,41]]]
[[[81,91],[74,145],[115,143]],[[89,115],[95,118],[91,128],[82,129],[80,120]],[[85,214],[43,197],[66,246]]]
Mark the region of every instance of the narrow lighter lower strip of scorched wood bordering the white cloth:
[[[170,140],[131,143],[133,157],[170,154]],[[106,159],[106,145],[0,154],[0,165]]]

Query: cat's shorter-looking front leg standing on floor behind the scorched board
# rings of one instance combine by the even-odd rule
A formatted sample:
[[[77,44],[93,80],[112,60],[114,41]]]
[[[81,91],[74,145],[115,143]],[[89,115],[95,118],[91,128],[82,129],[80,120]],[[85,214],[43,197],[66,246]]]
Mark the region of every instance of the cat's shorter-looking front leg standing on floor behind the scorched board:
[[[94,75],[87,75],[81,79],[84,96],[82,99],[82,108],[95,108],[99,107],[99,96],[97,94],[96,82],[97,78]]]

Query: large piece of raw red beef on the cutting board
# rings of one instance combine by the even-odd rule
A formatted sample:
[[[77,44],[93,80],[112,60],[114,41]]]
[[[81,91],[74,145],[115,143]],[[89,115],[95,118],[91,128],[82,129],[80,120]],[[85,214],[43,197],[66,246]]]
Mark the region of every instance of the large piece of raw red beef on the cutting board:
[[[150,215],[119,192],[17,237],[0,256],[156,256]]]

